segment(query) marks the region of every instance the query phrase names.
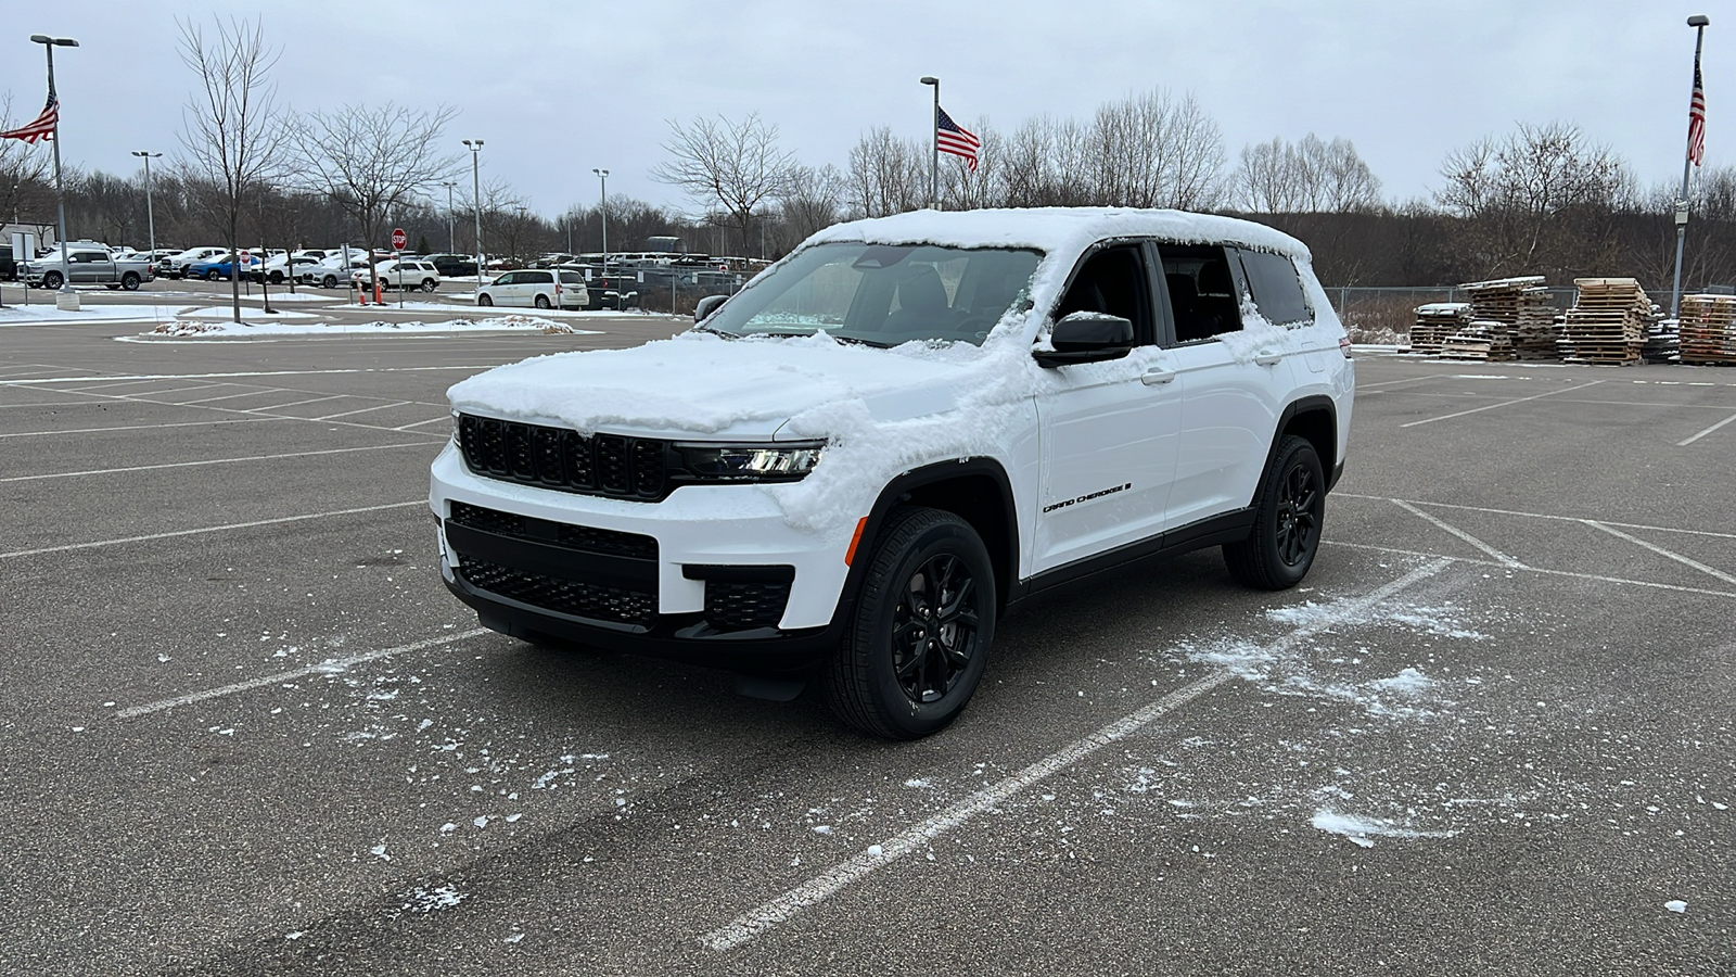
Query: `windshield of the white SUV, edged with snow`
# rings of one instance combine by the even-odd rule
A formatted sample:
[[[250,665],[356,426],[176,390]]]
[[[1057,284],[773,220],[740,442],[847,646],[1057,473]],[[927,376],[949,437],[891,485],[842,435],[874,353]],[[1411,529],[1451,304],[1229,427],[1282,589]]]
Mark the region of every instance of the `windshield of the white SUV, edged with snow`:
[[[983,344],[1028,301],[1042,254],[939,245],[823,243],[795,254],[705,320],[734,336],[828,336],[875,346]]]

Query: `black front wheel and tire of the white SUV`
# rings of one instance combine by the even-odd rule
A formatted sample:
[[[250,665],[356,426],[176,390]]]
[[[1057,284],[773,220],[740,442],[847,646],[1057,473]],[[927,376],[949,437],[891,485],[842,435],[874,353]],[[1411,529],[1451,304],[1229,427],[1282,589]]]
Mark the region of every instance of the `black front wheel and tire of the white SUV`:
[[[873,548],[826,702],[885,739],[918,739],[958,718],[995,640],[995,570],[970,523],[894,509]]]

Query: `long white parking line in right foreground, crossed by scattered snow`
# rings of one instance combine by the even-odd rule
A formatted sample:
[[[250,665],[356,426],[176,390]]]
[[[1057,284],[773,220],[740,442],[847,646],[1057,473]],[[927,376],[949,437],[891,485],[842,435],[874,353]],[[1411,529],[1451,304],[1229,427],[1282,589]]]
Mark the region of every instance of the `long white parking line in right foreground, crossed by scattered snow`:
[[[1448,565],[1451,565],[1451,560],[1434,560],[1424,567],[1418,567],[1410,574],[1404,574],[1403,577],[1375,589],[1368,596],[1349,601],[1338,615],[1333,615],[1333,619],[1312,621],[1309,624],[1304,624],[1302,628],[1297,628],[1295,631],[1290,631],[1283,638],[1267,645],[1266,652],[1281,654],[1285,648],[1295,645],[1302,638],[1307,638],[1316,631],[1332,628],[1338,624],[1340,619],[1359,614],[1363,608],[1373,603],[1380,603],[1382,600],[1403,591],[1404,588],[1410,588],[1411,584],[1417,584],[1420,581],[1425,581],[1439,574]],[[729,951],[741,944],[746,944],[757,939],[760,934],[781,923],[786,923],[800,911],[811,906],[818,906],[819,902],[825,902],[844,887],[861,881],[875,869],[896,862],[898,859],[927,845],[934,838],[939,838],[941,834],[946,834],[948,831],[965,824],[967,821],[983,814],[984,810],[1000,805],[1002,801],[1005,801],[1012,794],[1017,794],[1024,788],[1029,788],[1031,784],[1036,784],[1047,777],[1052,777],[1054,774],[1066,770],[1068,767],[1073,767],[1080,760],[1085,760],[1092,753],[1097,753],[1099,749],[1109,744],[1120,742],[1134,735],[1135,732],[1146,728],[1147,725],[1165,716],[1167,713],[1174,713],[1175,709],[1186,706],[1187,702],[1198,699],[1200,695],[1205,695],[1207,692],[1217,688],[1219,685],[1224,685],[1236,673],[1224,669],[1212,673],[1191,685],[1177,688],[1175,692],[1170,692],[1168,695],[1158,699],[1156,702],[1146,706],[1144,709],[1123,716],[1099,728],[1097,732],[1083,739],[1078,739],[1055,753],[1050,753],[1049,756],[1038,760],[1036,763],[1031,763],[1024,770],[1019,770],[1017,774],[1003,781],[983,788],[981,791],[951,805],[941,814],[936,814],[934,817],[924,821],[922,824],[917,824],[908,831],[894,834],[892,838],[887,838],[878,845],[871,845],[854,859],[838,862],[837,866],[832,866],[825,873],[814,876],[809,881],[804,881],[802,885],[785,892],[783,895],[755,909],[750,909],[741,916],[736,916],[736,920],[731,921],[729,925],[719,927],[700,937],[700,942],[715,951]]]

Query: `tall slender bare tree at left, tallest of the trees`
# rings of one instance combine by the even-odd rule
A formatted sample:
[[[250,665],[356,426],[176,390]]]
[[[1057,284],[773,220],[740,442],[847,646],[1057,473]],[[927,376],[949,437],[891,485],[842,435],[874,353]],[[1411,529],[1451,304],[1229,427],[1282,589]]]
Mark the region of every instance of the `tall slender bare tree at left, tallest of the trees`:
[[[283,120],[267,80],[278,52],[266,47],[259,24],[217,19],[214,38],[193,21],[181,24],[181,61],[200,76],[200,92],[182,111],[177,169],[210,193],[201,205],[231,252],[240,242],[250,195],[279,174]],[[229,301],[241,322],[241,269],[231,264]]]

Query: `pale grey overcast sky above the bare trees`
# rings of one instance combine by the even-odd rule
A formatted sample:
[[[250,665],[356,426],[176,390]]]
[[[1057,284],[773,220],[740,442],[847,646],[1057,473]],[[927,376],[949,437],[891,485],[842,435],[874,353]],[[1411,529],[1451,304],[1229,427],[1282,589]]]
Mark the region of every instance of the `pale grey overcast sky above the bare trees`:
[[[1012,130],[1036,115],[1088,116],[1130,92],[1193,92],[1243,146],[1345,137],[1391,200],[1439,186],[1443,156],[1517,122],[1575,122],[1642,186],[1680,181],[1693,76],[1689,14],[1706,28],[1706,165],[1736,148],[1736,17],[1675,0],[995,0],[832,3],[705,0],[295,0],[290,3],[17,3],[0,30],[12,120],[42,106],[56,49],[68,163],[134,172],[128,150],[179,151],[196,78],[175,16],[262,19],[295,110],[399,103],[458,110],[484,139],[484,179],[538,212],[609,193],[694,205],[649,179],[667,120],[759,111],[804,163],[844,167],[880,125],[929,137],[930,90],[963,125]],[[167,160],[165,160],[167,162]],[[464,160],[469,169],[469,160]],[[469,177],[469,174],[464,174]],[[465,179],[465,183],[469,183]],[[444,202],[441,202],[444,203]]]

